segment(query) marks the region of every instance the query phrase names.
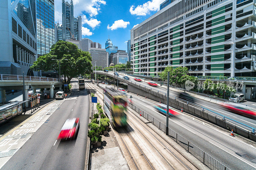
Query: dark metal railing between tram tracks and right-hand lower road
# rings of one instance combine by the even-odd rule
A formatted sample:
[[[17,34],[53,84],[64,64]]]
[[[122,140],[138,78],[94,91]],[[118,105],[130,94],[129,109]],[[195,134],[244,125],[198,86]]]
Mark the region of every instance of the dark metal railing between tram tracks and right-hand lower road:
[[[149,122],[154,124],[158,129],[165,133],[166,126],[164,123],[160,122],[155,117],[149,115],[147,112],[141,110],[140,108],[134,106],[131,103],[129,103],[129,107],[135,110],[137,113],[141,114],[142,117],[146,118]],[[196,145],[192,144],[186,138],[183,138],[180,134],[170,128],[168,128],[168,136],[210,169],[229,170],[228,167],[221,164],[218,160],[212,158],[212,156],[210,156],[208,153],[204,152],[202,149],[198,148]]]

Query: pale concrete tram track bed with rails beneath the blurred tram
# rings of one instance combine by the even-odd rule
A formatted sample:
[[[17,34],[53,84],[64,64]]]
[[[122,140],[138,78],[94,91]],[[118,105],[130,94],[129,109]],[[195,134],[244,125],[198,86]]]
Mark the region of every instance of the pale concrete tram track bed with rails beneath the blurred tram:
[[[95,90],[100,90],[98,92],[101,92],[101,90],[102,90],[98,86],[95,87],[95,85],[92,85],[90,83],[87,83],[87,85],[89,86],[89,88],[92,88]],[[103,100],[102,93],[97,93],[97,94]],[[134,167],[132,169],[137,169],[137,170],[138,169],[153,169],[154,170],[154,169],[159,169],[159,168],[165,168],[165,169],[188,169],[188,170],[191,170],[191,168],[189,168],[189,166],[185,162],[183,162],[174,152],[172,152],[168,148],[168,146],[167,146],[168,143],[165,145],[161,140],[159,140],[157,138],[157,134],[154,135],[153,133],[151,133],[147,129],[149,127],[148,126],[145,127],[143,124],[141,124],[139,122],[139,120],[137,120],[138,118],[135,115],[133,115],[132,113],[129,113],[129,112],[127,112],[127,113],[129,114],[129,117],[130,117],[130,118],[127,117],[128,126],[120,128],[120,129],[116,129],[116,131],[124,145],[126,152],[128,153],[125,155],[129,155],[129,157],[132,160],[132,164],[134,164]],[[136,122],[133,122],[133,121],[136,121]],[[138,124],[142,127],[137,127]],[[131,127],[131,125],[132,125],[132,127]],[[142,128],[147,131],[147,133],[148,133],[147,135],[145,135],[145,133],[143,134],[141,132]],[[113,129],[113,127],[112,127],[112,129]],[[136,132],[133,133],[133,131],[136,131]],[[139,140],[137,140],[138,142],[136,142],[136,139],[134,139],[134,137],[132,137],[132,135],[135,136],[136,139],[139,139]],[[154,138],[157,143],[157,146],[155,146],[148,138],[150,138],[150,139]],[[141,141],[144,141],[145,143],[147,143],[147,144],[145,144],[147,147],[145,147],[145,145],[143,145],[141,143]],[[142,148],[140,147],[140,145],[142,145]],[[138,155],[138,154],[136,155],[135,148],[136,148],[136,152],[140,153],[140,155]],[[151,150],[148,148],[150,148]],[[147,157],[147,155],[149,156],[149,158]],[[157,159],[152,159],[152,158],[157,158]],[[172,159],[170,159],[170,158],[172,158]],[[145,161],[141,161],[142,159],[144,159]],[[127,162],[128,161],[129,160],[127,160]],[[147,165],[145,165],[145,162],[147,163]],[[131,164],[130,164],[130,166],[131,166]],[[191,164],[190,166],[193,166],[193,165]],[[145,167],[148,167],[148,168],[145,168]],[[194,167],[192,169],[196,169],[196,168]]]

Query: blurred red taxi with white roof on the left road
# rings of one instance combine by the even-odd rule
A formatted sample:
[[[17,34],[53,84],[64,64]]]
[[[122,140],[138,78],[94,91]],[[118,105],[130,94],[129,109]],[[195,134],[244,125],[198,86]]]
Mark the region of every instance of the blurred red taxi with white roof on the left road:
[[[60,134],[57,139],[74,139],[79,127],[79,118],[69,118],[66,120],[60,130]]]

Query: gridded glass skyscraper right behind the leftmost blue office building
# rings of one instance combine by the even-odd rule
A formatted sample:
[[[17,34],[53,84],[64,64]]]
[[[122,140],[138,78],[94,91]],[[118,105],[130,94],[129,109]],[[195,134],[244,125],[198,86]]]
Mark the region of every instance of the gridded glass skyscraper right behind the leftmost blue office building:
[[[37,54],[50,52],[54,44],[54,0],[36,0]]]

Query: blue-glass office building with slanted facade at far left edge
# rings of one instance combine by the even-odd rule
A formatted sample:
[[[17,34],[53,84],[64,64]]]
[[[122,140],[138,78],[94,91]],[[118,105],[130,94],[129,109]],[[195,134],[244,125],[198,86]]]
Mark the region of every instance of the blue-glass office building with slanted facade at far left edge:
[[[1,0],[0,74],[38,76],[36,0]]]

